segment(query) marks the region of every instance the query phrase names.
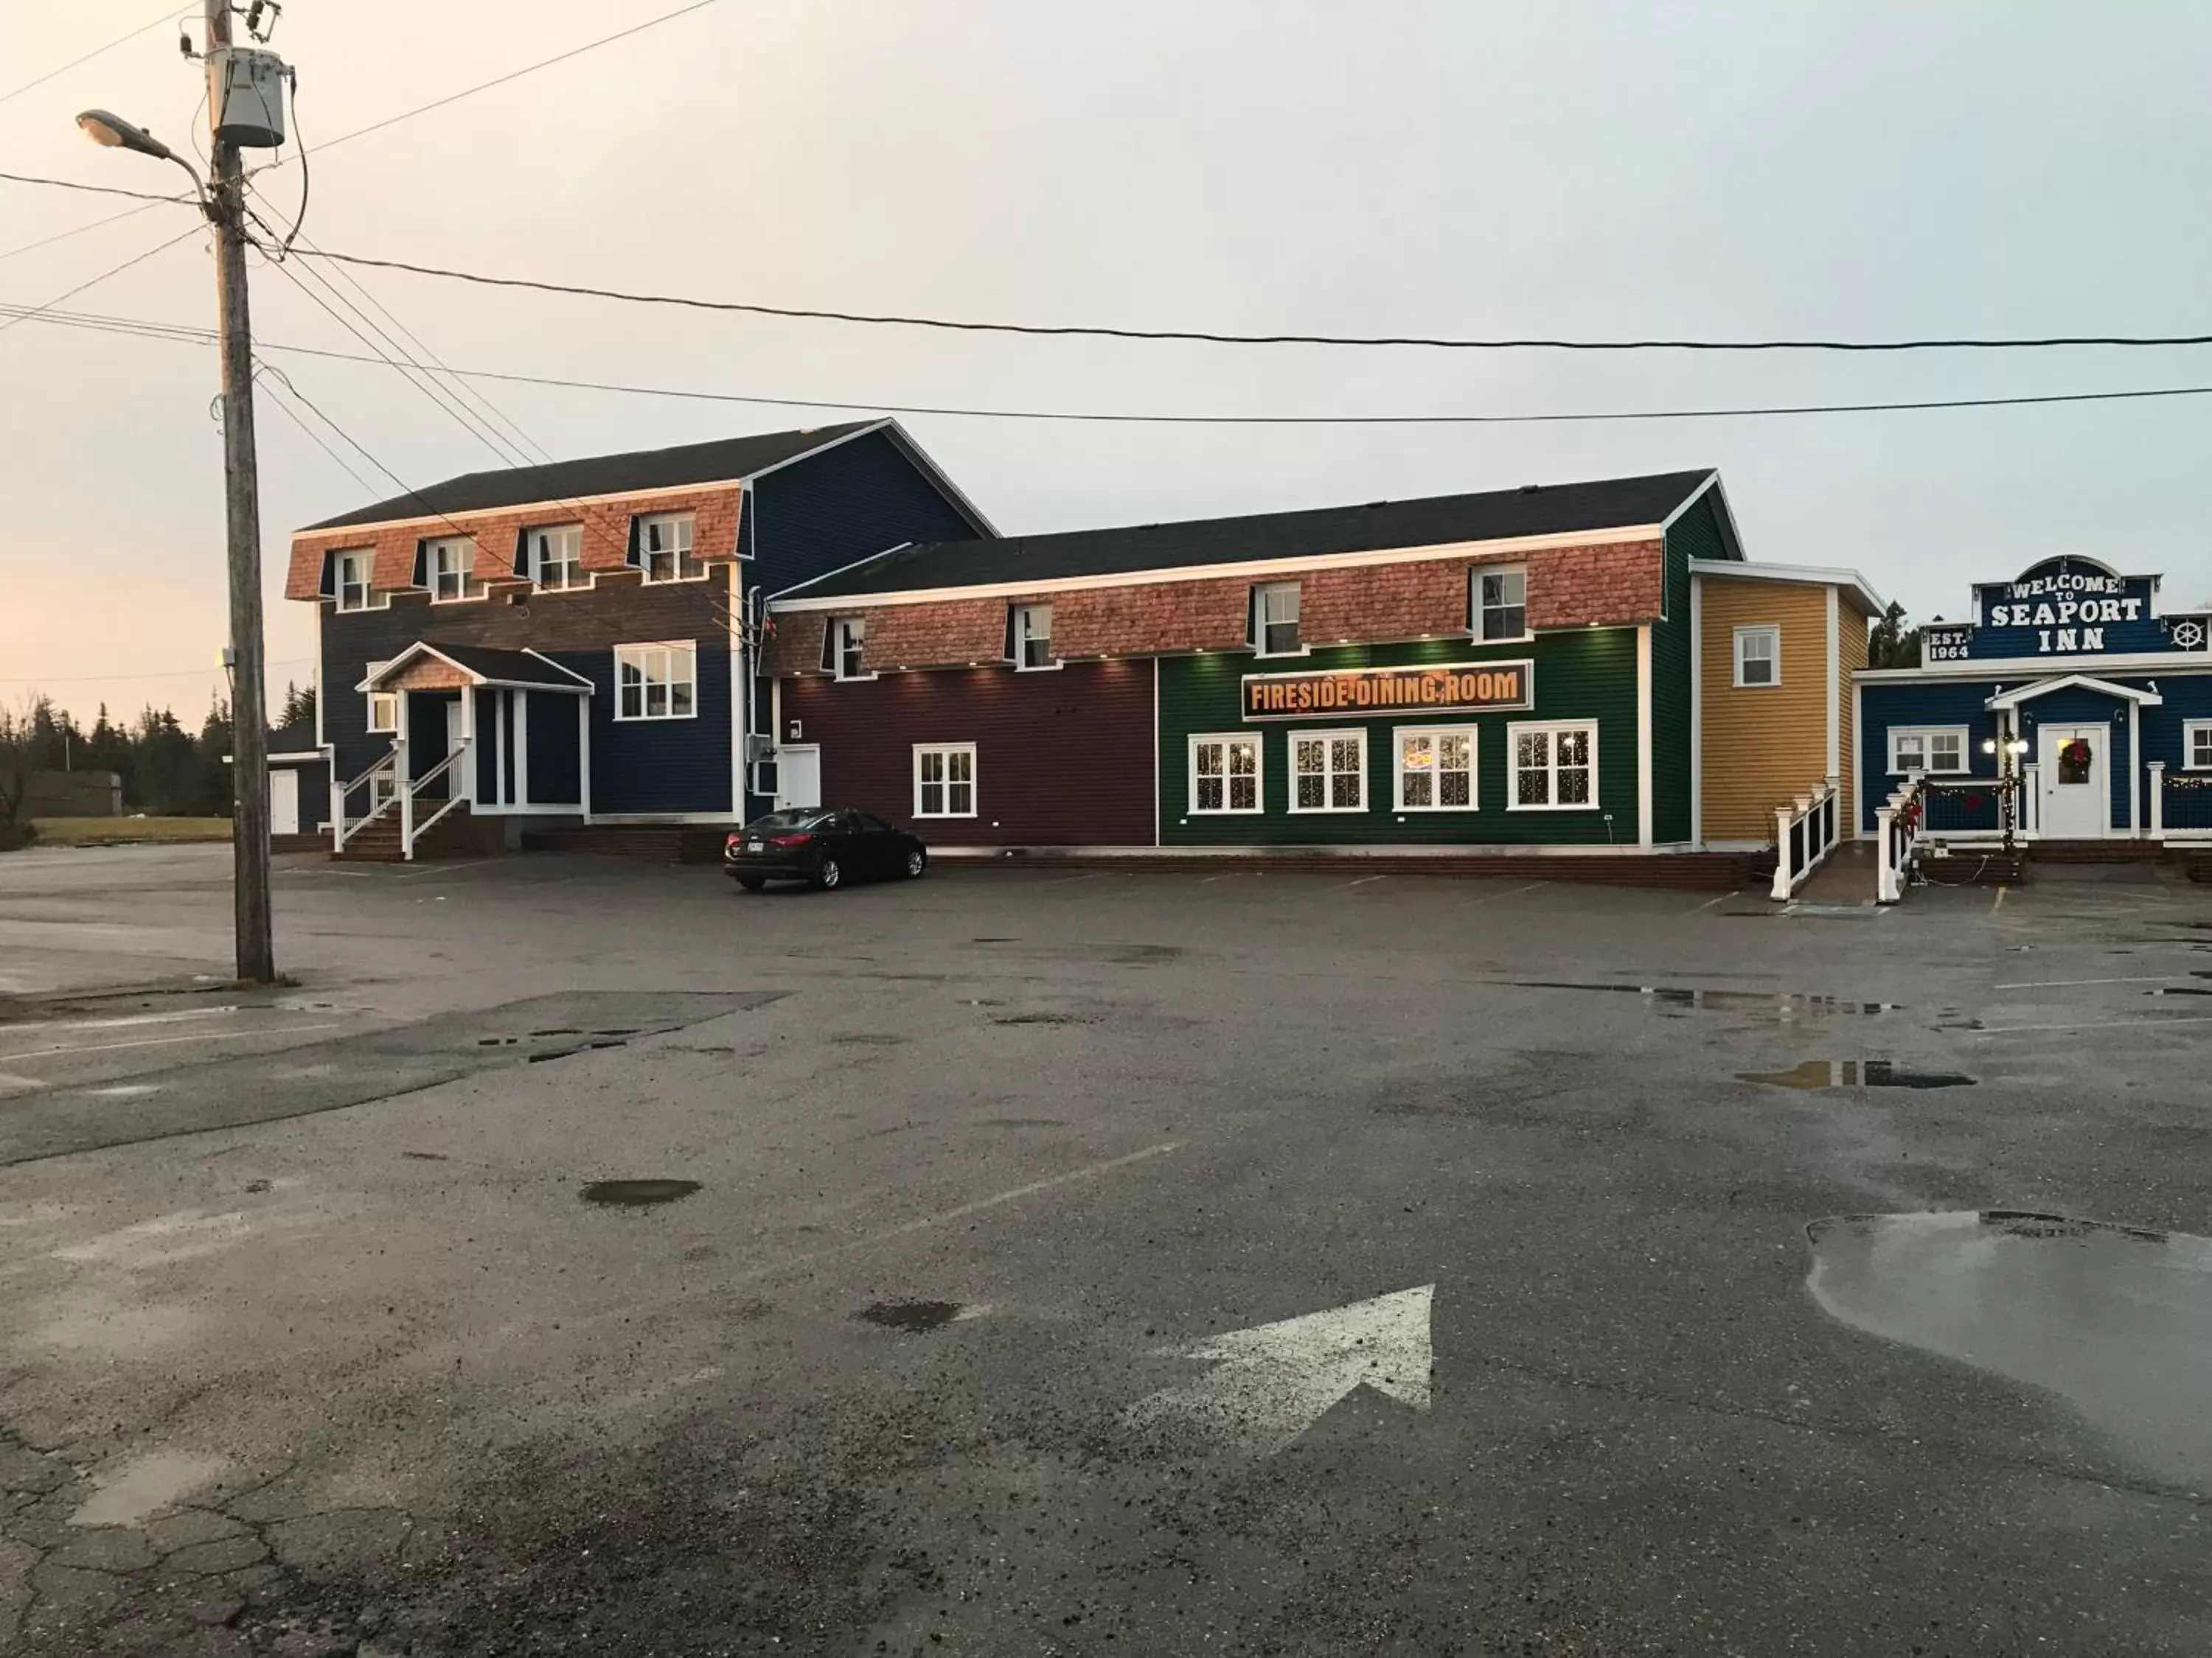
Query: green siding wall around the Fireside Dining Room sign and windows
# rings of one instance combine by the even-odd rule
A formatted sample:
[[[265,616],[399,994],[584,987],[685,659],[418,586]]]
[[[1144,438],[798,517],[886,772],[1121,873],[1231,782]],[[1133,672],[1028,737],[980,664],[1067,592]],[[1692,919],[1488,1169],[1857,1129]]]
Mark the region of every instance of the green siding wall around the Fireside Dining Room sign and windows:
[[[1688,608],[1688,595],[1683,597]],[[1535,663],[1535,710],[1515,714],[1303,721],[1241,718],[1250,672],[1398,668],[1431,661]],[[1506,811],[1513,721],[1597,721],[1597,805],[1588,811]],[[1475,725],[1475,811],[1396,811],[1391,730]],[[1367,727],[1367,811],[1290,811],[1290,734]],[[1190,816],[1190,736],[1259,732],[1259,816]],[[1610,827],[1604,814],[1613,814]],[[1520,646],[1431,639],[1407,646],[1336,646],[1312,657],[1256,661],[1245,652],[1159,661],[1159,838],[1168,847],[1352,847],[1352,844],[1597,844],[1637,840],[1637,634],[1635,628],[1542,634]]]

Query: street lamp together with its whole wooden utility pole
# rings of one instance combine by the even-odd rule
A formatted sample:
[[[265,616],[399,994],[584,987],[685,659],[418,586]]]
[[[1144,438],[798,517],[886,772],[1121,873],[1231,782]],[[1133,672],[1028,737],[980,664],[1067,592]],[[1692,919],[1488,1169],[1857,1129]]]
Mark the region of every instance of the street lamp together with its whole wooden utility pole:
[[[223,520],[230,573],[230,856],[232,920],[237,926],[237,970],[246,984],[276,979],[276,948],[270,928],[270,796],[268,796],[268,707],[261,639],[261,469],[254,455],[252,321],[246,307],[246,166],[239,146],[268,148],[281,141],[281,115],[268,88],[283,64],[274,53],[230,44],[230,0],[204,0],[208,29],[208,126],[212,128],[212,190],[190,161],[144,126],[104,108],[77,115],[93,144],[135,150],[155,161],[175,161],[192,175],[192,195],[215,228],[217,323],[223,356]],[[252,27],[259,7],[248,15]],[[232,75],[237,60],[243,69]],[[230,122],[232,93],[252,104]],[[281,108],[281,104],[279,104]],[[259,115],[259,119],[246,119]]]

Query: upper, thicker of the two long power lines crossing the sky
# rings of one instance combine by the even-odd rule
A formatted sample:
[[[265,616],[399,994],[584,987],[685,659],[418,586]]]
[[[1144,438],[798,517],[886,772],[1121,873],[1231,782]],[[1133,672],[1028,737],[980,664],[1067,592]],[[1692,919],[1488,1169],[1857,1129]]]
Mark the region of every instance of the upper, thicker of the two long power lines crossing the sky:
[[[330,148],[330,146],[323,146]],[[1183,340],[1203,345],[1358,345],[1422,347],[1436,351],[2022,351],[2057,345],[2212,345],[2212,334],[2051,334],[2035,338],[1920,338],[1920,340],[1555,340],[1555,338],[1464,338],[1449,334],[1228,334],[1188,327],[1113,327],[1093,323],[978,323],[951,316],[898,316],[889,312],[827,312],[801,305],[754,305],[734,298],[697,298],[690,294],[641,294],[622,287],[586,287],[549,283],[533,276],[487,276],[449,265],[418,265],[407,259],[367,259],[336,254],[327,248],[316,259],[374,270],[405,270],[416,276],[440,276],[478,287],[526,287],[538,294],[571,294],[608,298],[624,305],[675,305],[692,312],[739,312],[745,316],[785,316],[816,323],[867,323],[872,327],[931,327],[956,334],[1026,334],[1040,338],[1093,340]]]

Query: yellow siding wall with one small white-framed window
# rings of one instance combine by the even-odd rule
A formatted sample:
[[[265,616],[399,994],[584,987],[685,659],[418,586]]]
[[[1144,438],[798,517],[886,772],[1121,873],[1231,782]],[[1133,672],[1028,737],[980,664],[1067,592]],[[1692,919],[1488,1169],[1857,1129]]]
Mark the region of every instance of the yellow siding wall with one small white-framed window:
[[[1699,579],[1705,840],[1774,840],[1774,807],[1827,776],[1827,718],[1834,705],[1827,692],[1829,588],[1812,581],[1730,581],[1717,575]],[[1781,685],[1736,685],[1736,628],[1756,626],[1783,630]],[[1838,637],[1849,632],[1849,606],[1838,626]],[[1849,696],[1849,679],[1838,690]]]

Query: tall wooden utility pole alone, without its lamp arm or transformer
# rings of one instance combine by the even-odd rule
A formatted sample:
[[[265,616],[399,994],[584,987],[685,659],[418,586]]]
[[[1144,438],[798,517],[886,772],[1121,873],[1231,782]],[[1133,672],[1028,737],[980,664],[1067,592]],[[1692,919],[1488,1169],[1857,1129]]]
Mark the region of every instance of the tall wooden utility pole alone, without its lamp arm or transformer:
[[[210,219],[223,345],[223,511],[230,531],[230,853],[239,979],[270,984],[270,727],[261,648],[261,471],[254,458],[254,329],[246,309],[246,168],[217,137],[223,115],[219,49],[230,44],[230,0],[206,0],[208,137],[215,146]]]

